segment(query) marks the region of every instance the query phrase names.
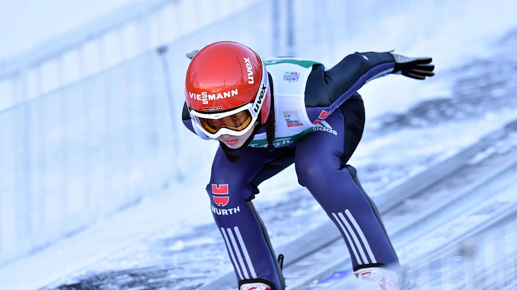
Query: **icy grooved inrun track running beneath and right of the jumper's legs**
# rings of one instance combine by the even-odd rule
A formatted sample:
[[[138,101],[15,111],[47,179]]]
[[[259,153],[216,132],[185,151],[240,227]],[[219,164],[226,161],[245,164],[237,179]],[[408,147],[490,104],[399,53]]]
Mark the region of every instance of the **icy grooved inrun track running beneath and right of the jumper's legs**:
[[[488,278],[484,280],[498,280],[499,286],[514,279],[512,272],[517,264],[513,259],[516,248],[515,243],[512,243],[512,236],[517,234],[517,228],[500,227],[514,222],[517,214],[516,128],[517,122],[514,121],[505,126],[504,130],[491,134],[484,139],[485,144],[490,145],[483,153],[472,159],[464,159],[466,163],[460,162],[462,166],[459,170],[443,179],[434,180],[431,186],[421,191],[414,190],[414,195],[383,213],[384,225],[390,233],[391,243],[397,249],[401,263],[420,272],[420,289],[451,289],[448,284],[452,280],[457,286],[465,285],[465,282],[478,280],[472,277],[473,272]],[[484,242],[492,239],[484,236],[494,231],[497,232],[498,239],[506,241],[499,243],[497,250],[482,249]],[[465,247],[468,249],[465,250]],[[301,285],[317,281],[318,284],[310,289],[355,289],[356,279],[351,275],[350,261],[348,256],[343,257],[342,248],[343,241],[338,239],[320,251],[304,257],[302,262],[288,266],[284,269],[288,288],[301,289]],[[470,260],[468,263],[473,264],[447,265],[449,260],[461,261],[465,257]],[[482,263],[483,257],[488,258],[486,264]],[[498,263],[494,263],[494,260]],[[429,267],[430,263],[434,265]],[[468,269],[469,266],[475,270]],[[468,269],[467,275],[464,273],[465,268]],[[347,275],[339,279],[341,282],[336,281],[335,272],[331,274],[333,271]],[[494,277],[493,273],[498,275]],[[327,275],[328,279],[325,278]],[[348,282],[345,285],[346,280]],[[329,284],[333,286],[327,288]],[[483,284],[488,286],[488,283],[481,283]]]

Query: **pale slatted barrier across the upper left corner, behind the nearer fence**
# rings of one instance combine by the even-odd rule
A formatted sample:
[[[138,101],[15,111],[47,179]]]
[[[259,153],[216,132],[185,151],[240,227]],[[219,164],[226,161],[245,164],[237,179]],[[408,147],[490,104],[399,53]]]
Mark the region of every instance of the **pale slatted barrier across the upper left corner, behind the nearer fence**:
[[[151,0],[128,6],[0,65],[0,111],[152,51],[255,3]]]

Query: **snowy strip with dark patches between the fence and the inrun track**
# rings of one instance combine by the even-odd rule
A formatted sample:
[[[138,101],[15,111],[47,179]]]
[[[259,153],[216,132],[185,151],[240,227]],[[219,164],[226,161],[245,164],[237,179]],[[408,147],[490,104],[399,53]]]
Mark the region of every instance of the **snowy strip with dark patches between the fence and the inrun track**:
[[[387,76],[360,91],[369,119],[350,163],[358,168],[371,196],[517,118],[517,29],[495,23],[497,33],[483,28],[477,41],[458,35],[452,25],[438,29],[427,43],[407,45],[407,51],[400,52],[414,55],[420,49],[435,59],[442,56],[435,63],[445,68],[438,66],[434,79],[418,82]],[[446,33],[448,29],[453,32]],[[456,54],[438,52],[455,50],[452,44],[445,45],[444,34],[456,40]],[[364,43],[358,43],[356,50]],[[468,57],[460,57],[465,51]],[[400,87],[392,102],[383,95],[383,85],[388,83]],[[63,290],[191,289],[231,271],[209,211],[204,190],[207,174],[197,176],[198,182],[187,178],[172,183],[152,198],[0,268],[0,285],[23,290],[45,285],[45,289]],[[310,193],[297,184],[293,167],[264,182],[260,190],[255,205],[273,246],[327,219]],[[295,222],[299,219],[304,223]]]

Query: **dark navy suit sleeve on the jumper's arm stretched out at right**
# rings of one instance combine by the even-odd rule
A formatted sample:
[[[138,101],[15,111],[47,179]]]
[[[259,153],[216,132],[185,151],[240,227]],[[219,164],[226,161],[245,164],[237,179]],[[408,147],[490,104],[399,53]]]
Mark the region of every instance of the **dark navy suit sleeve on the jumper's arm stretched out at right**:
[[[354,53],[325,71],[314,65],[307,79],[305,103],[313,124],[323,121],[370,80],[393,72],[390,53]]]

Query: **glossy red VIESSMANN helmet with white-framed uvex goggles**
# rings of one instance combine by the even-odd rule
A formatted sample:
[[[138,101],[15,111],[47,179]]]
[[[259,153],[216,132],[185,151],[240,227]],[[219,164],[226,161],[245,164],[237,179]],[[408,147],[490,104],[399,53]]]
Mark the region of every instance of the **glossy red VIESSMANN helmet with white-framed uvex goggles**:
[[[192,122],[207,136],[244,135],[262,113],[269,116],[266,66],[249,47],[237,42],[212,43],[190,62],[185,98]]]

